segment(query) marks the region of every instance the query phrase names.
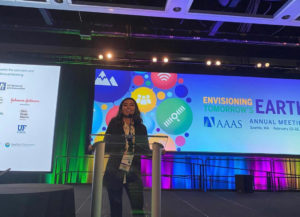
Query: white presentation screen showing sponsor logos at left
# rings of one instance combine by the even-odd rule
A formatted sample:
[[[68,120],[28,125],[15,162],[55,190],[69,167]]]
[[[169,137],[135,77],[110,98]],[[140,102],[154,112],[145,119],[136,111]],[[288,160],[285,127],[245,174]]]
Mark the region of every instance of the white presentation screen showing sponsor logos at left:
[[[51,171],[59,75],[59,66],[0,63],[0,171]]]

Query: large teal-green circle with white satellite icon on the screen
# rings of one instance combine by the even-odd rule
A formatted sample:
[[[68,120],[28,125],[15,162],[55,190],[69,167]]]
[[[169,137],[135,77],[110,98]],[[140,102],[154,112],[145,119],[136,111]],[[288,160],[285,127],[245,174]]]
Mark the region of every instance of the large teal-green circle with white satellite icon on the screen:
[[[190,128],[193,121],[193,112],[184,100],[170,98],[158,106],[156,121],[166,133],[178,135]]]

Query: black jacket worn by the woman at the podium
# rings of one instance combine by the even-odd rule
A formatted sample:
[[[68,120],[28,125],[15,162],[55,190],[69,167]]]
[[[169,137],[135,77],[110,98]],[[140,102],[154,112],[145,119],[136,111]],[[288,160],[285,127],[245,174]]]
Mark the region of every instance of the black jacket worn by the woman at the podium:
[[[150,153],[147,139],[147,129],[143,124],[135,124],[135,155],[126,174],[127,182],[135,181],[141,176],[141,154]],[[113,118],[106,130],[105,152],[110,154],[104,174],[104,184],[107,188],[119,189],[123,186],[125,172],[119,170],[123,153],[125,151],[125,136],[122,121]]]

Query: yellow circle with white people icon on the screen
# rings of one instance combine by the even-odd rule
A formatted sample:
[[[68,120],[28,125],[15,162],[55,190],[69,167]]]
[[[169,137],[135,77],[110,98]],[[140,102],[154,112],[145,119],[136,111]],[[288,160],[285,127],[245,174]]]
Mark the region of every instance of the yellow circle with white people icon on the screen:
[[[152,89],[140,87],[131,93],[141,112],[149,112],[156,106],[156,95]]]

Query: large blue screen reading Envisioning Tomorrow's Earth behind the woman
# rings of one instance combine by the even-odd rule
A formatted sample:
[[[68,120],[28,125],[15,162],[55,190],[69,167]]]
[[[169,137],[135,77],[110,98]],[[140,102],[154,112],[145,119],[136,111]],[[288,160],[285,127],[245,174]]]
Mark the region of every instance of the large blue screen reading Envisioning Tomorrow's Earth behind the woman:
[[[134,98],[169,151],[300,154],[300,81],[97,69],[92,133]]]

